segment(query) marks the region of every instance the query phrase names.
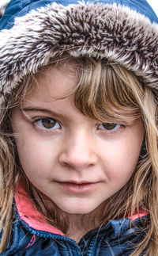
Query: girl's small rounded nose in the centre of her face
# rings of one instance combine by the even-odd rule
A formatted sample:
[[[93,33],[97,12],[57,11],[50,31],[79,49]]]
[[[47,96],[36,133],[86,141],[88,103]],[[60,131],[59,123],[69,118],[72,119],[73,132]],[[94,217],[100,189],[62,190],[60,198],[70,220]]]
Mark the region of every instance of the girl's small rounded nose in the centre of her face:
[[[73,135],[68,136],[64,143],[59,162],[75,170],[95,166],[97,155],[94,139],[86,132],[73,132]]]

